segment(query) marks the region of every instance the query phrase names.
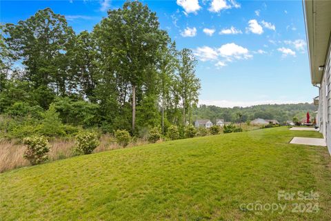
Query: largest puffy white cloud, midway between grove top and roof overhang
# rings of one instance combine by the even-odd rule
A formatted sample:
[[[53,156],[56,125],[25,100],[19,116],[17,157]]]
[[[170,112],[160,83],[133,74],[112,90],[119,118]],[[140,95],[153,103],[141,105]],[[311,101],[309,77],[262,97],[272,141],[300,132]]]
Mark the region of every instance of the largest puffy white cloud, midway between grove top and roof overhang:
[[[229,61],[234,59],[249,59],[252,57],[247,48],[238,46],[237,44],[223,44],[221,48],[218,49],[219,55],[221,57],[227,58]]]

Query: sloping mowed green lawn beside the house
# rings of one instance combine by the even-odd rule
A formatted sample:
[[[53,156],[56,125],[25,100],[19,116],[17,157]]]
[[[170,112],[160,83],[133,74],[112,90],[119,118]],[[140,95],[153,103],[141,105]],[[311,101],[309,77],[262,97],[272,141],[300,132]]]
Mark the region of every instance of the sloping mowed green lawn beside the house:
[[[288,144],[314,131],[268,128],[150,144],[0,175],[0,220],[330,220],[331,159]],[[292,213],[277,192],[315,191],[319,212]],[[288,204],[250,211],[241,204]]]

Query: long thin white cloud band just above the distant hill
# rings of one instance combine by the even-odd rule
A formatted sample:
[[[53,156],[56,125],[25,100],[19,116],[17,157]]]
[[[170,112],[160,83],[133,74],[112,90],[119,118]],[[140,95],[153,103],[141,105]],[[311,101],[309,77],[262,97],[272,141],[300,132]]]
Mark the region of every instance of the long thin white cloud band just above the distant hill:
[[[234,106],[254,106],[259,104],[299,104],[307,101],[284,101],[284,100],[258,100],[258,101],[229,101],[229,100],[199,100],[199,104],[220,106],[223,108],[233,108]]]

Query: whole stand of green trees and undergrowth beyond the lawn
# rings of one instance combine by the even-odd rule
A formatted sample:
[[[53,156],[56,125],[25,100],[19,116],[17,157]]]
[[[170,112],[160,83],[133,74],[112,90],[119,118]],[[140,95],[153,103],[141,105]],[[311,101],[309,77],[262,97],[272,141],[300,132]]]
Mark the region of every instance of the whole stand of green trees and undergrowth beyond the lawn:
[[[139,1],[76,34],[50,8],[1,26],[1,133],[70,136],[79,130],[142,137],[183,127],[198,102],[192,51],[177,50]],[[156,138],[155,138],[156,139]]]

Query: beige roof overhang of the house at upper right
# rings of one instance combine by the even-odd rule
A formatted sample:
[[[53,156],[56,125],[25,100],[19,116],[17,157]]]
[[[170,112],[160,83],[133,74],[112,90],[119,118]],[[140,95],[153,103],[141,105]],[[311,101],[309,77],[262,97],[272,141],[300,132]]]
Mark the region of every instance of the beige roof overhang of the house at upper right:
[[[328,53],[331,30],[331,1],[305,0],[305,31],[307,33],[312,84],[320,84]]]

